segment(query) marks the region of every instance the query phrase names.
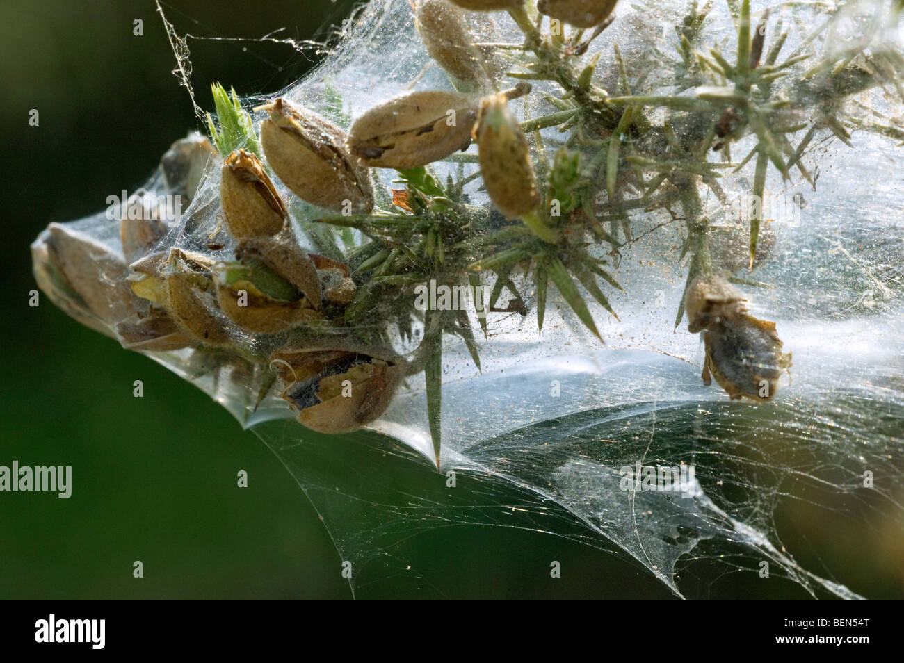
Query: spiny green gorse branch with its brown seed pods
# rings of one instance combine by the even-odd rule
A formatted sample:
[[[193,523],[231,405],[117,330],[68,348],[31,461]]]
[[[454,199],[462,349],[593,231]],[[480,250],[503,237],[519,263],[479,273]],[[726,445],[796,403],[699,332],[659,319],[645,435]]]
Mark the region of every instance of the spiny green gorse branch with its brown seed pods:
[[[767,401],[791,358],[736,286],[757,283],[740,274],[765,259],[768,219],[755,206],[749,226],[726,236],[704,198],[729,204],[726,173],[749,173],[756,201],[770,174],[815,186],[804,156],[826,135],[904,140],[904,57],[877,37],[902,4],[813,6],[824,21],[803,33],[794,3],[752,14],[749,0],[692,0],[673,48],[651,42],[626,57],[616,42],[610,57],[601,44],[622,5],[417,0],[417,32],[447,84],[353,121],[328,86],[321,114],[297,98],[246,107],[215,85],[216,150],[200,137],[174,145],[166,184],[190,200],[215,191],[193,209],[197,219],[217,210],[216,224],[190,217],[181,234],[124,224],[127,262],[108,257],[112,279],[81,258],[97,248],[91,238],[57,227],[36,253],[39,283],[126,347],[190,349],[207,371],[228,367],[257,386],[250,410],[280,393],[315,430],[369,424],[422,373],[439,462],[444,339],[460,338],[480,369],[488,320],[532,312],[540,334],[558,293],[603,340],[599,315],[618,316],[610,300],[626,285],[620,252],[643,241],[639,215],[663,216],[683,223],[674,326],[687,313],[689,331],[704,333],[704,380]],[[733,42],[708,41],[715,12],[730,14]],[[486,39],[513,30],[519,38]],[[870,107],[863,93],[874,89],[886,107]],[[182,173],[209,158],[220,184],[198,190]],[[726,262],[726,241],[742,264]],[[485,314],[417,305],[419,286],[477,292],[485,282]]]

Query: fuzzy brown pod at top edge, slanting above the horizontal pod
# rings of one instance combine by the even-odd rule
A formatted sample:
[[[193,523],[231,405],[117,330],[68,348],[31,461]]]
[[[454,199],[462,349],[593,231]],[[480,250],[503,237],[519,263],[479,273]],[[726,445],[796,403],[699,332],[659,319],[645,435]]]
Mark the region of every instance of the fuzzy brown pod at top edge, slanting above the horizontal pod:
[[[457,6],[447,0],[419,0],[414,24],[428,55],[449,76],[469,90],[488,86],[491,76],[484,54],[475,46],[465,15]]]

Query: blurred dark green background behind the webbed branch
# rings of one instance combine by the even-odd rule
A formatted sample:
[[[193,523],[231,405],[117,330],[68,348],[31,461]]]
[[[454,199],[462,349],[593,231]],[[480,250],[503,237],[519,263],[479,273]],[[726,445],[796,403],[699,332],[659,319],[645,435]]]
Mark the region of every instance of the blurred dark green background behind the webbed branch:
[[[2,263],[0,464],[71,465],[74,487],[70,500],[0,494],[0,598],[350,598],[315,509],[254,434],[241,431],[200,390],[80,326],[45,297],[38,308],[27,305],[35,287],[33,238],[51,221],[102,210],[111,193],[134,191],[175,139],[203,128],[171,73],[174,56],[152,2],[8,0],[4,6],[0,126],[9,252]],[[171,0],[163,6],[180,33],[256,38],[285,28],[277,36],[304,40],[323,38],[325,26],[340,23],[352,3]],[[133,35],[135,19],[144,21],[143,36]],[[193,85],[205,108],[212,107],[212,81],[242,95],[263,94],[315,61],[312,53],[278,44],[190,46]],[[28,126],[32,108],[40,111],[40,126]],[[136,379],[144,382],[143,398],[132,396]],[[236,487],[240,470],[249,473],[248,489]],[[792,529],[819,537],[827,518],[822,510],[798,510]],[[846,531],[852,541],[839,546],[811,540],[805,549],[815,559],[801,561],[815,561],[817,573],[823,563],[856,567],[847,578],[856,591],[899,594],[900,584],[889,584],[899,566],[875,574],[875,560],[851,551],[862,541],[858,536],[868,535]],[[670,597],[637,565],[538,532],[435,530],[418,537],[416,547],[428,566],[428,591],[376,573],[358,595]],[[559,580],[550,578],[550,559],[565,570]],[[135,560],[144,563],[143,579],[132,577]],[[694,597],[805,597],[784,581],[758,582],[756,574],[722,575],[724,568],[706,565],[692,571],[684,582]]]

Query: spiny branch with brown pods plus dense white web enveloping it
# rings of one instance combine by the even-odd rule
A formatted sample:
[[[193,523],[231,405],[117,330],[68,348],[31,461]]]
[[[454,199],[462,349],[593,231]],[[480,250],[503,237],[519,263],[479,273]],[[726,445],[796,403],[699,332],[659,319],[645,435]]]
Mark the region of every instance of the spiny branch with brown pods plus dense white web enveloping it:
[[[375,0],[314,75],[222,91],[134,204],[51,224],[35,275],[245,424],[366,426],[436,462],[638,394],[763,421],[833,379],[897,400],[876,164],[904,140],[899,11]],[[851,315],[886,334],[858,327],[858,358],[836,351]],[[612,369],[630,351],[652,378]]]

